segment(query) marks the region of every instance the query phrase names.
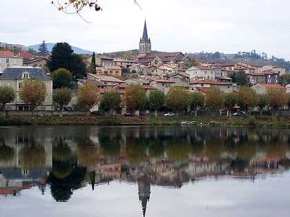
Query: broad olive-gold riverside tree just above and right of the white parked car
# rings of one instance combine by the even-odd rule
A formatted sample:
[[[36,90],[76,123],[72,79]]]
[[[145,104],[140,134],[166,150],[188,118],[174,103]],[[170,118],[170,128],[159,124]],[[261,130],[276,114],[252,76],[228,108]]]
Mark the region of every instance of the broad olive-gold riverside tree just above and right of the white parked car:
[[[165,104],[171,110],[187,110],[190,105],[189,91],[184,87],[171,87],[166,96]]]

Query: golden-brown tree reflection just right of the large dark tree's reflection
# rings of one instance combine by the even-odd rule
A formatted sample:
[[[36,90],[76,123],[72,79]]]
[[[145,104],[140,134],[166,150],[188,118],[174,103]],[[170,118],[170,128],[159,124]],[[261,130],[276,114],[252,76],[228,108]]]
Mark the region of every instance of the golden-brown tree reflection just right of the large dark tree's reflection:
[[[91,141],[78,144],[77,158],[81,165],[94,165],[99,160],[99,147]]]

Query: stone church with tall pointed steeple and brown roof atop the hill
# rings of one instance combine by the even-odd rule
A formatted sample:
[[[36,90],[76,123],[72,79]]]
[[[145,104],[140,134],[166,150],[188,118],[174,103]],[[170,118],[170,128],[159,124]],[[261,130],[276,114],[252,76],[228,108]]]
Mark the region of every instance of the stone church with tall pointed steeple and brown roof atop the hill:
[[[191,59],[182,52],[152,52],[151,39],[148,37],[146,20],[144,22],[143,34],[139,41],[139,56],[136,63],[156,67],[164,64],[176,64],[178,68],[189,68]]]

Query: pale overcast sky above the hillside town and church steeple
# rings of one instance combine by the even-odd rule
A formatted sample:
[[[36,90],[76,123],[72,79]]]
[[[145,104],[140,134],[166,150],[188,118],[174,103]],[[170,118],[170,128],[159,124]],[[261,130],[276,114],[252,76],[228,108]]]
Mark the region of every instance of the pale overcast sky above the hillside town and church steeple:
[[[152,50],[255,50],[290,61],[287,0],[137,0],[142,10],[134,0],[98,0],[101,12],[81,12],[90,23],[59,12],[51,1],[2,2],[0,42],[67,42],[97,53],[139,49],[146,19]]]

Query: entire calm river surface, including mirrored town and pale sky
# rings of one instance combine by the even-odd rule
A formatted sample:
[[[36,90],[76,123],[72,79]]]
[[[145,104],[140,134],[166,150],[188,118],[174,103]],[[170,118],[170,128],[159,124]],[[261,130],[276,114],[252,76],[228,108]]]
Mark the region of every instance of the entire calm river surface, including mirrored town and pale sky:
[[[1,216],[289,216],[289,130],[0,127]]]

